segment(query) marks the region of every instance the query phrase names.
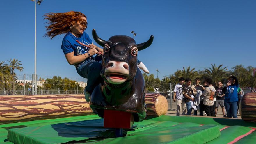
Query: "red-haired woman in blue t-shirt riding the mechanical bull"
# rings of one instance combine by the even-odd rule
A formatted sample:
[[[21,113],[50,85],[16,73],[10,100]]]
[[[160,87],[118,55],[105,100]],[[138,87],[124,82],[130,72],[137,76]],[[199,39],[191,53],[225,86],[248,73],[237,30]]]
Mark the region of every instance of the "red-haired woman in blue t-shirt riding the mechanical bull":
[[[81,12],[47,13],[45,19],[49,20],[46,26],[46,37],[51,39],[57,35],[65,34],[61,49],[67,62],[76,67],[77,73],[87,78],[87,86],[84,90],[85,99],[90,101],[90,93],[101,82],[100,71],[103,49],[93,44],[84,30],[87,28],[87,18]],[[93,57],[93,55],[98,54]],[[138,60],[138,66],[144,72],[149,73],[145,65]]]

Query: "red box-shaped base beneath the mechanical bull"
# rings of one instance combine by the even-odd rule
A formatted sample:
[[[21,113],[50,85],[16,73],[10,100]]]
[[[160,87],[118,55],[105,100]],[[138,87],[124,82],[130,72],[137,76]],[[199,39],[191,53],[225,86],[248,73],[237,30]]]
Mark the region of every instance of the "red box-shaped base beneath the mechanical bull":
[[[133,114],[125,111],[104,110],[105,128],[130,129],[133,125]]]

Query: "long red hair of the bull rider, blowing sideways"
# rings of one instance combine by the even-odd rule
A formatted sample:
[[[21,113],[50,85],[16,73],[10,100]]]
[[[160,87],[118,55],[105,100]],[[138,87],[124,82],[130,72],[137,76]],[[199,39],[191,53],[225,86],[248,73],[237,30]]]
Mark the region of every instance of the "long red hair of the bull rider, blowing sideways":
[[[51,39],[57,35],[67,33],[77,22],[82,25],[87,25],[87,22],[82,19],[82,17],[86,18],[86,16],[81,12],[47,13],[44,17],[44,19],[49,20],[49,22],[46,22],[45,37],[50,37]]]

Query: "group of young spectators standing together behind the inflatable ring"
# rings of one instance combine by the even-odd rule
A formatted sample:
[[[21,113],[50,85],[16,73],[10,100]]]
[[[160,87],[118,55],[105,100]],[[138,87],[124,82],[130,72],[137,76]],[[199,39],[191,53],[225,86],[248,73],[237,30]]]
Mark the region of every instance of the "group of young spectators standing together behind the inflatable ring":
[[[243,91],[239,88],[236,77],[231,76],[223,87],[221,81],[214,86],[211,78],[205,78],[200,84],[200,79],[195,79],[195,84],[191,85],[191,79],[179,78],[179,83],[174,88],[174,99],[176,102],[176,115],[194,115],[216,116],[218,107],[221,106],[223,117],[237,118],[238,106],[243,96]],[[226,110],[226,111],[225,111]],[[227,113],[227,114],[226,114]]]

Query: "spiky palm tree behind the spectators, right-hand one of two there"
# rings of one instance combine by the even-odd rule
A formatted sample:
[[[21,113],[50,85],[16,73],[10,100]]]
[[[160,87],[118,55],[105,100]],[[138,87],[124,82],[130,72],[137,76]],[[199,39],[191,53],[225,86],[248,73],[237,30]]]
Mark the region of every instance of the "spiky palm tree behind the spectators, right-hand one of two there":
[[[205,68],[205,72],[212,78],[215,85],[218,81],[221,81],[222,79],[227,78],[227,71],[225,69],[227,67],[222,68],[223,65],[219,65],[216,67],[216,65],[211,64],[211,67]]]

